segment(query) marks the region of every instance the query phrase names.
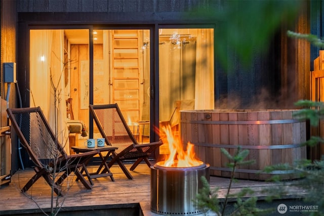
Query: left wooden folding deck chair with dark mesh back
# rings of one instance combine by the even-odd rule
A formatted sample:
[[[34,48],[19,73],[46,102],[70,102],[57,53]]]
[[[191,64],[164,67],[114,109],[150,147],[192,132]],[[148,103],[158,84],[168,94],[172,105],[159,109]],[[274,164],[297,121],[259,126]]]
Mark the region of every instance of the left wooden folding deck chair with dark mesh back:
[[[9,108],[7,112],[20,142],[35,164],[36,174],[21,189],[23,193],[39,178],[43,177],[51,187],[54,187],[57,195],[62,195],[61,183],[71,172],[75,173],[87,189],[92,188],[79,168],[85,168],[89,177],[89,172],[84,163],[96,155],[98,151],[67,155],[57,141],[40,107]],[[57,178],[54,177],[54,174],[57,175]]]

